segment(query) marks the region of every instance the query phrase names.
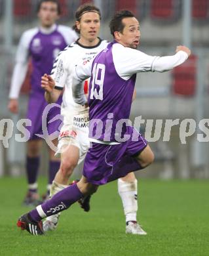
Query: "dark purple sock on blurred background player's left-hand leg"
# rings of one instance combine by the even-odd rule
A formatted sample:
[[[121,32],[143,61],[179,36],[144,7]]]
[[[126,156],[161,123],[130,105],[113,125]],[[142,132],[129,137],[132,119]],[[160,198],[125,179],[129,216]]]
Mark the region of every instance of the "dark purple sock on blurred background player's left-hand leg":
[[[39,171],[39,157],[36,158],[26,158],[26,174],[28,178],[28,184],[34,184],[37,181],[37,174]]]

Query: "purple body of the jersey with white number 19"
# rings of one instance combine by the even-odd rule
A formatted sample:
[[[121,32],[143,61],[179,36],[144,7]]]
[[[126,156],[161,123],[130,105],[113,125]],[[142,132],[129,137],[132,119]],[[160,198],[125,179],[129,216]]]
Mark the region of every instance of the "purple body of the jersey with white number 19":
[[[126,132],[126,125],[125,123],[122,125],[122,120],[128,119],[130,116],[136,82],[136,74],[128,80],[117,74],[112,53],[114,43],[116,42],[109,43],[107,49],[94,59],[88,95],[91,120],[89,137],[104,141],[118,141]],[[102,121],[102,134],[95,135],[98,123],[94,123],[92,119]],[[119,127],[117,124],[122,125],[121,130],[117,129]]]

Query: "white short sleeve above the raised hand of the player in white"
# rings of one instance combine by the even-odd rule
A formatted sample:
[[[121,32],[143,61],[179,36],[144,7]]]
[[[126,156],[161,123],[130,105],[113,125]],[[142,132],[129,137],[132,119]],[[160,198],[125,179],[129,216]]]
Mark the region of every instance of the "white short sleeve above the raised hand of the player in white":
[[[68,67],[69,68],[69,67]],[[51,71],[51,77],[55,81],[55,89],[62,90],[66,84],[68,75],[65,51],[58,54]]]

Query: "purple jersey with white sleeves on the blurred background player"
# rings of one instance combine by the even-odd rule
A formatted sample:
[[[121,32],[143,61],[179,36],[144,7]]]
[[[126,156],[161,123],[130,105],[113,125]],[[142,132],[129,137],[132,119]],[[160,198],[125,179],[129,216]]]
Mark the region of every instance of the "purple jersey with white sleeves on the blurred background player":
[[[24,32],[18,44],[9,98],[19,96],[20,87],[26,77],[29,56],[33,66],[31,93],[44,95],[44,90],[41,89],[41,76],[45,73],[50,74],[58,53],[76,39],[77,35],[71,28],[56,24],[50,28],[32,28]]]

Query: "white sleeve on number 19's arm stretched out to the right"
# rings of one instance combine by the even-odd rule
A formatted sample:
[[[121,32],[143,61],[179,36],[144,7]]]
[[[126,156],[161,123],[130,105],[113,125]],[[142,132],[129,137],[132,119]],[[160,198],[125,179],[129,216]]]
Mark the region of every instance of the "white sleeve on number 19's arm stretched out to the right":
[[[117,73],[123,79],[129,79],[133,74],[139,72],[165,72],[187,60],[187,53],[180,51],[172,56],[151,56],[141,51],[123,47],[121,45],[113,48],[113,62]]]

